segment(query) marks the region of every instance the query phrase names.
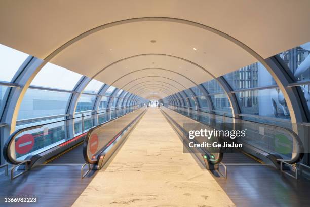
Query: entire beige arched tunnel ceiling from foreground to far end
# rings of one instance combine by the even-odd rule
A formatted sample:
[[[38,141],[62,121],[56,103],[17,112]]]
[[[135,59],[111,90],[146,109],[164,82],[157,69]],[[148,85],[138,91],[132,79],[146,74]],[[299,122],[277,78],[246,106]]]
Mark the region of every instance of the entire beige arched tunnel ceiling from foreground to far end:
[[[0,4],[0,43],[42,59],[90,29],[121,21],[73,43],[51,62],[130,92],[146,82],[164,82],[173,90],[184,90],[212,78],[202,68],[218,77],[256,61],[235,43],[190,21],[228,34],[263,58],[308,42],[310,37],[310,1],[33,0]],[[187,23],[147,18],[122,22],[142,17],[177,18]],[[149,95],[147,91],[141,94]],[[166,94],[158,91],[157,96]]]

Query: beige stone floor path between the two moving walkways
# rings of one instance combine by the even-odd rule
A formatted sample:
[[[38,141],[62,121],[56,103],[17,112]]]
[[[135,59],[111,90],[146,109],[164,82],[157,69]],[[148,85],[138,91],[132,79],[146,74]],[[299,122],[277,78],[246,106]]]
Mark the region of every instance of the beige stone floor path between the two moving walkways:
[[[160,110],[150,108],[73,206],[235,206],[190,154]]]

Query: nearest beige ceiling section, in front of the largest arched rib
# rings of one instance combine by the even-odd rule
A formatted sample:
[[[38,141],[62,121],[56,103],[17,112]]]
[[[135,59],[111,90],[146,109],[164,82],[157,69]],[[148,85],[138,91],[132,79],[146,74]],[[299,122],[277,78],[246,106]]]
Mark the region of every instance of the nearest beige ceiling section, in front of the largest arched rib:
[[[307,0],[4,0],[0,6],[0,40],[44,58],[68,40],[102,24],[138,17],[172,17],[214,27],[265,58],[309,41],[309,8]]]

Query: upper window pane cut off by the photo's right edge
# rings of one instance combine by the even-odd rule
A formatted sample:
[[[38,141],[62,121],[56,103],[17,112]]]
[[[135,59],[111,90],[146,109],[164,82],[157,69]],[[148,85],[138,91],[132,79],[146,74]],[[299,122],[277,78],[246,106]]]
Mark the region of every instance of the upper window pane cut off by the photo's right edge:
[[[310,42],[278,54],[298,81],[310,80]]]

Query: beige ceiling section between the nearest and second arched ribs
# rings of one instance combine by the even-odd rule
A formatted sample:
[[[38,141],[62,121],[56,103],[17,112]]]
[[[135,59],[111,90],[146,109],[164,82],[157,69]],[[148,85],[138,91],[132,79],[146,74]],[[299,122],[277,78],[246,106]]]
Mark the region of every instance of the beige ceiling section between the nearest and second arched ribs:
[[[156,43],[151,43],[152,40]],[[161,21],[128,23],[93,33],[66,48],[53,58],[52,62],[93,77],[98,71],[115,61],[150,53],[168,54],[187,59],[201,65],[216,77],[255,62],[255,59],[244,49],[217,34],[191,25]],[[169,67],[166,68],[172,67],[175,70],[182,64],[172,61],[164,58],[162,61],[153,62],[156,62],[159,67],[168,63]],[[133,67],[143,68],[141,66],[144,66],[144,62],[141,58],[129,59],[109,69],[117,68],[117,74],[122,74],[120,69],[126,66],[131,70]],[[157,65],[147,64],[144,67]],[[107,73],[110,73],[110,70]],[[198,73],[197,77],[201,75]],[[106,83],[110,81],[106,73],[102,73],[99,80]],[[198,80],[198,82],[204,81],[206,80]]]

